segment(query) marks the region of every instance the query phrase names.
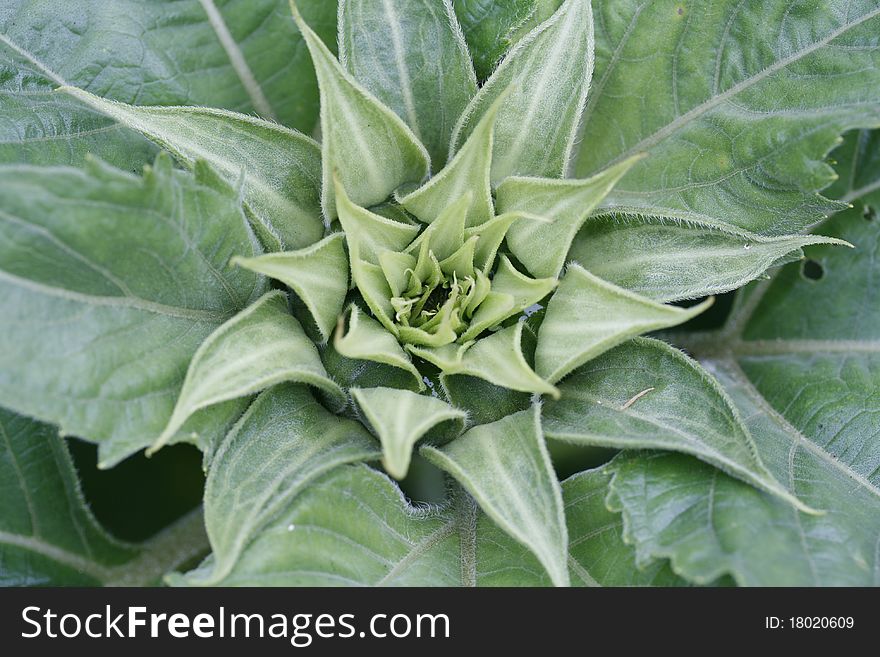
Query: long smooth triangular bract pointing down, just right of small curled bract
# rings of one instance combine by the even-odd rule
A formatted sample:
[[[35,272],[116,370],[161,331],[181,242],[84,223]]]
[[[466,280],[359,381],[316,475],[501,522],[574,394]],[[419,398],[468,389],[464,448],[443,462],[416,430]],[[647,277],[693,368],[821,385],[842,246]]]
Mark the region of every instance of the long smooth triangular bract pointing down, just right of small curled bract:
[[[541,435],[539,409],[470,429],[425,457],[449,472],[480,508],[528,547],[557,586],[568,585],[568,536],[559,482]]]

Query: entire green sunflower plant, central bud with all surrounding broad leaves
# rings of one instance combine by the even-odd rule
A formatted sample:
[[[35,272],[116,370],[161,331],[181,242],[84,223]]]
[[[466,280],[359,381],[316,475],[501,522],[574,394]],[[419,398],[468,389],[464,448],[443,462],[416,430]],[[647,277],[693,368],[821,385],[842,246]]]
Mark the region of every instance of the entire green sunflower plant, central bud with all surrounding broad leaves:
[[[217,89],[164,28],[137,89],[90,73],[159,10],[72,3],[83,64],[37,4],[0,17],[0,582],[880,584],[876,132],[818,195],[880,125],[873,3],[183,0]],[[195,444],[203,511],[115,541],[58,433]]]

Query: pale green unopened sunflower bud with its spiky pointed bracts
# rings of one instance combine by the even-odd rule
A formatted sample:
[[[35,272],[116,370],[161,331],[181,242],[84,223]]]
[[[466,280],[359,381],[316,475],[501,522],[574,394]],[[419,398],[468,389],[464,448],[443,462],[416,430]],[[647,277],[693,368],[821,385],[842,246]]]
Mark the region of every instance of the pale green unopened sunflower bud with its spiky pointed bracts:
[[[237,185],[265,247],[233,263],[292,292],[292,314],[271,291],[205,340],[154,447],[201,409],[282,381],[308,384],[369,428],[396,478],[417,442],[433,445],[426,457],[564,584],[567,529],[537,397],[559,400],[563,379],[591,359],[711,303],[667,305],[570,261],[584,223],[643,159],[565,177],[593,70],[590,0],[561,2],[482,86],[449,0],[340,0],[339,58],[291,7],[317,74],[320,144],[239,115],[69,90],[204,176],[213,175],[201,161],[205,135],[230,126],[247,135],[211,160]],[[407,21],[418,29],[406,39],[388,27]],[[223,369],[247,349],[253,358]],[[636,390],[619,410],[654,390]],[[489,417],[474,410],[481,397],[498,402]],[[481,426],[465,432],[468,423]],[[674,449],[802,506],[746,431],[718,449],[681,440]],[[522,479],[496,485],[514,475]]]

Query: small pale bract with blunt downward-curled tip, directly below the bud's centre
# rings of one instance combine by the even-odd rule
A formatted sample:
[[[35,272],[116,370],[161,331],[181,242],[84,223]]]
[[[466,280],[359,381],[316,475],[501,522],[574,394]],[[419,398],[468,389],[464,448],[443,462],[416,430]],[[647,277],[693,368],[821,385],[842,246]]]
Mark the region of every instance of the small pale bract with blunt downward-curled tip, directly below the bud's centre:
[[[467,419],[463,411],[444,401],[408,390],[352,389],[351,396],[382,443],[382,465],[395,479],[406,476],[413,446],[420,439],[430,441],[444,434],[454,438],[464,430]]]

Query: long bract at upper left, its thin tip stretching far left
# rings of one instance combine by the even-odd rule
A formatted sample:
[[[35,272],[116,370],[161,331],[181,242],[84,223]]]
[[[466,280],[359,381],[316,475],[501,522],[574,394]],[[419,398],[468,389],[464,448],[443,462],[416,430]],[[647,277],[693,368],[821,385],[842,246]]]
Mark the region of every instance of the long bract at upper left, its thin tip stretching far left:
[[[281,248],[321,238],[321,149],[277,123],[202,107],[136,107],[75,87],[61,91],[141,132],[189,168],[210,162],[230,184],[241,180],[260,237]]]

